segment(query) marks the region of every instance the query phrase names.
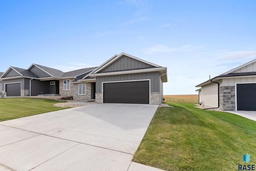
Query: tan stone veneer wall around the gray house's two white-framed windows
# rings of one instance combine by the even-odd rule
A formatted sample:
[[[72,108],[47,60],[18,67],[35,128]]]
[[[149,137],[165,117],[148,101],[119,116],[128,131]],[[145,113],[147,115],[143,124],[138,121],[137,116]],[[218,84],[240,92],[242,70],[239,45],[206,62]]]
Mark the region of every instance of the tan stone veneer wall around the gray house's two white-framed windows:
[[[68,79],[67,79],[68,80]],[[86,100],[91,99],[91,83],[71,83],[75,79],[70,80],[70,90],[63,90],[64,80],[60,80],[60,95],[61,96],[72,96],[74,100]],[[86,84],[86,94],[78,95],[78,85]]]

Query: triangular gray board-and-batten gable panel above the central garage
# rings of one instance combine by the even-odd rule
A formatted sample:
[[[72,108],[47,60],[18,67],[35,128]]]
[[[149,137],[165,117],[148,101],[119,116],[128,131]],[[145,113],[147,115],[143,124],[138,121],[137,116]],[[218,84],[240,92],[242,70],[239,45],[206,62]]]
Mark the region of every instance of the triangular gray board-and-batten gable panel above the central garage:
[[[139,68],[152,68],[154,66],[146,64],[144,62],[135,60],[128,56],[122,56],[108,67],[104,68],[98,73],[102,72],[113,72],[113,71],[124,71],[124,70],[135,70]]]

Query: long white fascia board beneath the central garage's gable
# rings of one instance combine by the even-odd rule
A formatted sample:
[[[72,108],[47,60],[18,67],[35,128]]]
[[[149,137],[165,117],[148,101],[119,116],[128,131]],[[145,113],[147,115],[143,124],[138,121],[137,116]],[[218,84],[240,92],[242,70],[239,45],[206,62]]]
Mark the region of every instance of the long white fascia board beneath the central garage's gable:
[[[96,76],[112,76],[112,75],[122,75],[122,74],[136,74],[136,73],[143,73],[143,72],[156,72],[156,71],[163,71],[166,70],[166,67],[160,68],[148,68],[142,70],[130,70],[130,71],[119,71],[119,72],[105,72],[105,73],[96,73],[96,74],[88,74],[88,76],[96,77]]]

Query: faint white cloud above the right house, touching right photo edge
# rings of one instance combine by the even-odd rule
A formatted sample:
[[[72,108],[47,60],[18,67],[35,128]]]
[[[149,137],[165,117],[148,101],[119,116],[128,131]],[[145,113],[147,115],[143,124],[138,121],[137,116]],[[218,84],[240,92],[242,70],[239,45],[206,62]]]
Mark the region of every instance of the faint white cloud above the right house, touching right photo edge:
[[[217,54],[221,59],[238,60],[241,58],[256,57],[256,51],[235,51],[235,52],[222,52]]]

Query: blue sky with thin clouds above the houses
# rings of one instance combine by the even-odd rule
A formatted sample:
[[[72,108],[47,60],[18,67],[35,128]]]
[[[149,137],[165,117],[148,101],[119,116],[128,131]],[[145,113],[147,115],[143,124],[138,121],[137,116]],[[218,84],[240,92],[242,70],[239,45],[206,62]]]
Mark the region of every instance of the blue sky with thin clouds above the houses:
[[[0,0],[0,72],[68,72],[122,52],[167,67],[164,95],[256,58],[255,0]]]

